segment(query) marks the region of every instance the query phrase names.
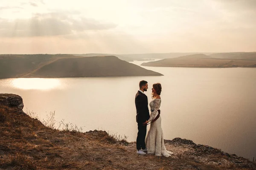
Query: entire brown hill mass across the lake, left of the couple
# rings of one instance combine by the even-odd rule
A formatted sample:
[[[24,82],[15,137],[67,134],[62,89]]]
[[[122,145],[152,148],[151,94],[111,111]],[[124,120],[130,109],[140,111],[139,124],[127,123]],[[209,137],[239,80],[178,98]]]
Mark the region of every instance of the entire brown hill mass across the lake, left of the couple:
[[[161,76],[140,66],[107,57],[77,57],[71,54],[2,54],[0,78]]]

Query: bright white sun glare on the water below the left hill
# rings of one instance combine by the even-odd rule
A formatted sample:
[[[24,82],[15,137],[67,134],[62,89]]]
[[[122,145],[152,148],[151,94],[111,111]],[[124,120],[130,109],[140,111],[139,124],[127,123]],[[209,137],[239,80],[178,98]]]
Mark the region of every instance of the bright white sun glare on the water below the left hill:
[[[20,89],[40,89],[49,90],[61,85],[59,79],[44,79],[44,78],[19,78],[13,79],[12,85]]]

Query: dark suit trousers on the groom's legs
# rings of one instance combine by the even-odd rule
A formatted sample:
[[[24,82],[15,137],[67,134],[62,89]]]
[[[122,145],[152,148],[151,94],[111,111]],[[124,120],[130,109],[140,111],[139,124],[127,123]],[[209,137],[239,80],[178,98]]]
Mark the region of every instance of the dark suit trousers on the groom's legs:
[[[137,140],[136,140],[136,147],[137,150],[145,149],[145,138],[147,133],[147,125],[143,125],[143,123],[138,123],[138,134],[137,134]]]

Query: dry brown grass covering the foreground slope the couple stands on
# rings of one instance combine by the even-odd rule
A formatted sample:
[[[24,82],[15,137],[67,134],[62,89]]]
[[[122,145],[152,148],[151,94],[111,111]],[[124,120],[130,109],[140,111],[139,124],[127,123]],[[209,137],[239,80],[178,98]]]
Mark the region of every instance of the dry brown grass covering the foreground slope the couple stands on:
[[[234,166],[232,158],[221,154],[212,159],[225,160],[227,164],[215,165],[214,161],[206,164],[202,160],[211,156],[205,154],[195,159],[191,157],[192,153],[196,156],[195,150],[187,145],[166,144],[167,149],[175,152],[170,158],[140,156],[135,153],[136,143],[128,143],[124,136],[102,130],[81,133],[68,129],[52,129],[25,113],[0,108],[0,169],[243,170],[256,167],[250,167],[246,160],[241,161],[247,167]]]

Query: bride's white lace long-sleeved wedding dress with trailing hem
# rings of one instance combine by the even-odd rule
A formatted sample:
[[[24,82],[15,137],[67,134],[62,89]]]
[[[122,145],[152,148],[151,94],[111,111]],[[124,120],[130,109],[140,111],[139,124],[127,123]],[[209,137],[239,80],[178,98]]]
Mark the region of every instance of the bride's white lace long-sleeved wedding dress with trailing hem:
[[[152,101],[149,103],[151,114],[148,121],[153,120],[157,116],[157,110],[160,108],[160,105],[161,99],[152,99]],[[171,156],[172,152],[166,150],[166,147],[164,146],[161,116],[155,122],[150,124],[145,143],[148,153],[155,154],[156,156]]]

